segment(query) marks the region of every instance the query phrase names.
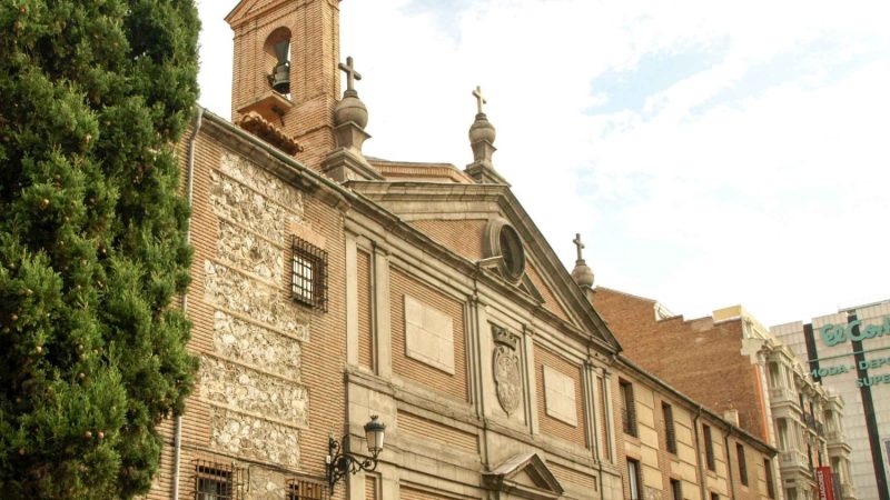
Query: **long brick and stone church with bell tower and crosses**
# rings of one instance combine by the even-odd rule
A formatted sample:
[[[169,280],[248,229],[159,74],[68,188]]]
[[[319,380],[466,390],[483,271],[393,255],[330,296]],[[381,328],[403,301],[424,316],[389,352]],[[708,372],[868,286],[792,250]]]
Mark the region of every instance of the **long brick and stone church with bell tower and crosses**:
[[[199,109],[179,150],[201,367],[148,498],[775,498],[775,449],[621,354],[478,89],[465,169],[362,153],[339,8],[227,17],[233,119]]]

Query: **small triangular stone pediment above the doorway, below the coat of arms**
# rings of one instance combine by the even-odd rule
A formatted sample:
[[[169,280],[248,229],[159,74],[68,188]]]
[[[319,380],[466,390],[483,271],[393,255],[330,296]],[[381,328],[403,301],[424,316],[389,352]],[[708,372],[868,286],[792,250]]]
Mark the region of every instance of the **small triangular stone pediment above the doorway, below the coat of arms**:
[[[493,471],[483,473],[483,482],[493,490],[538,500],[555,499],[564,492],[546,462],[535,452],[511,457]]]

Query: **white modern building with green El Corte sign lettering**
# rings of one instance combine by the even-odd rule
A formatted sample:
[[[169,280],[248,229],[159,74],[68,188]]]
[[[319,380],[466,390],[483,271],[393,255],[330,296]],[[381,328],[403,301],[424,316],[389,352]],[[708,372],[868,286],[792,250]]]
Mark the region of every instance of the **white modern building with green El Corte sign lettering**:
[[[890,499],[890,300],[770,331],[811,377],[843,398],[843,416],[832,417],[843,422],[851,463],[839,473],[851,478],[859,498]],[[829,436],[839,431],[830,429]],[[839,447],[829,443],[830,451]]]

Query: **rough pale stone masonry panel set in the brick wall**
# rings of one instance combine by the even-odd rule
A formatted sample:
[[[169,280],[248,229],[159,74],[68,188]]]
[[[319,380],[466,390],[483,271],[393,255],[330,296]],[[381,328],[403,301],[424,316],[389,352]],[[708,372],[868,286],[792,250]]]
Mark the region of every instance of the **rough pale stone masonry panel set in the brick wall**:
[[[210,448],[296,468],[300,430],[308,426],[300,368],[309,318],[281,283],[289,272],[288,228],[303,221],[303,194],[230,153],[209,178],[207,202],[218,223],[216,256],[204,261],[204,291],[215,309],[214,332],[198,378],[210,406]],[[261,482],[256,498],[280,493],[280,480]]]

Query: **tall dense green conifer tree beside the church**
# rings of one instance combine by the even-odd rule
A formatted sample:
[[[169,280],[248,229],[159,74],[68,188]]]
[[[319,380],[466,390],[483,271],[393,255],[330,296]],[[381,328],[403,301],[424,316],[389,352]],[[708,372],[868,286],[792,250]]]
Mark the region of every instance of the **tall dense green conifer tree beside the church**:
[[[0,0],[0,497],[131,498],[196,369],[176,303],[192,0]]]

